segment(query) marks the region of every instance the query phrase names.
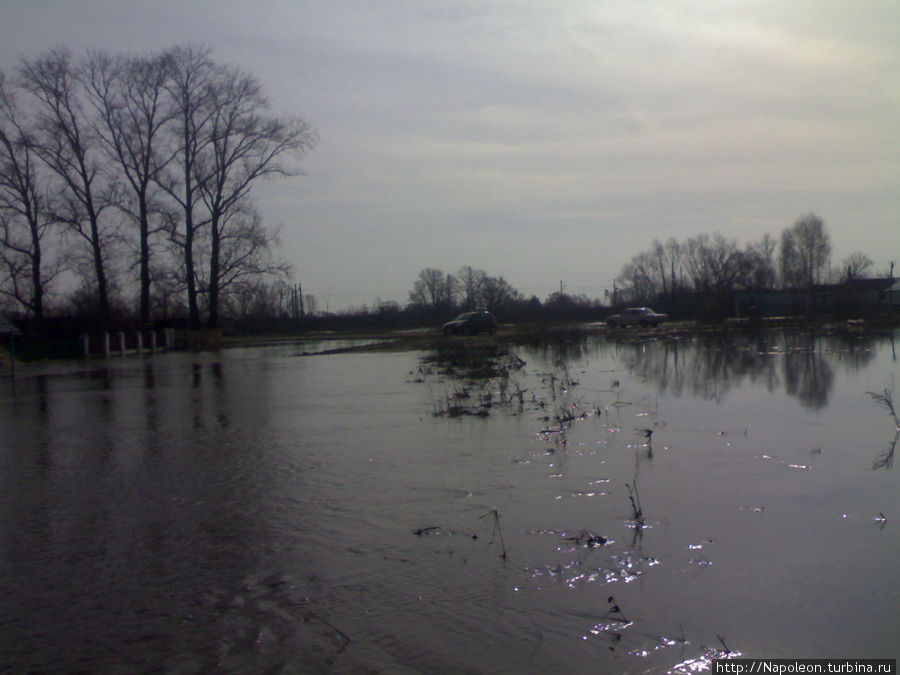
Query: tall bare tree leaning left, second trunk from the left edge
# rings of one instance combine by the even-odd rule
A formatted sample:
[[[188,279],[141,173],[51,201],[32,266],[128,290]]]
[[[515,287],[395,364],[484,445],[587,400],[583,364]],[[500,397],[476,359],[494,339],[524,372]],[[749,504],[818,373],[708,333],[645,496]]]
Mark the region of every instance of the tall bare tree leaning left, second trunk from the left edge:
[[[112,200],[111,186],[101,173],[99,141],[83,109],[76,66],[67,49],[44,52],[19,67],[19,83],[35,101],[34,150],[63,186],[56,217],[87,244],[97,302],[110,318],[107,246],[111,232],[101,214]]]

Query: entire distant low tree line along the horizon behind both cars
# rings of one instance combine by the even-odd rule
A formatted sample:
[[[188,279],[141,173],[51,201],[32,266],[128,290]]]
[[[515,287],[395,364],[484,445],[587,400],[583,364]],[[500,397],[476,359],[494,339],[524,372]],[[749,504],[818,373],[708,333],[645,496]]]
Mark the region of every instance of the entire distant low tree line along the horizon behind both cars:
[[[784,228],[741,246],[720,233],[683,242],[655,240],[616,278],[612,296],[600,299],[563,292],[544,300],[525,296],[502,276],[469,265],[455,273],[426,267],[415,278],[407,303],[376,300],[337,313],[319,312],[314,296],[299,296],[283,282],[248,286],[236,296],[237,330],[349,328],[393,329],[434,324],[457,312],[487,309],[502,321],[596,321],[624,305],[651,304],[683,317],[721,318],[733,311],[740,290],[809,289],[826,282],[865,277],[872,261],[861,252],[831,265],[831,240],[822,219],[808,213]],[[888,272],[885,272],[885,276]]]

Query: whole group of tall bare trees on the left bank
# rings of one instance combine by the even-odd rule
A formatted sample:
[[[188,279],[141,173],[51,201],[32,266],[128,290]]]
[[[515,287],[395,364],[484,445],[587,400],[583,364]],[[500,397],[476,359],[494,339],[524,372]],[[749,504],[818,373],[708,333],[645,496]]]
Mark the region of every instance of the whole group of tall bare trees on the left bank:
[[[53,300],[215,327],[223,303],[286,278],[251,191],[316,141],[207,47],[23,58],[0,72],[0,298],[38,320]]]

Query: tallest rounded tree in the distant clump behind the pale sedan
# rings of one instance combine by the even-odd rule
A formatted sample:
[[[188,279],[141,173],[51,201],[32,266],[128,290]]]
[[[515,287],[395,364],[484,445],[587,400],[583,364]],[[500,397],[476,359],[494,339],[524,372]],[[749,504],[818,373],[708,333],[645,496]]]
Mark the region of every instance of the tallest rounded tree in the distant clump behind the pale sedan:
[[[781,233],[781,277],[786,287],[821,283],[831,258],[831,239],[815,213],[801,216]]]

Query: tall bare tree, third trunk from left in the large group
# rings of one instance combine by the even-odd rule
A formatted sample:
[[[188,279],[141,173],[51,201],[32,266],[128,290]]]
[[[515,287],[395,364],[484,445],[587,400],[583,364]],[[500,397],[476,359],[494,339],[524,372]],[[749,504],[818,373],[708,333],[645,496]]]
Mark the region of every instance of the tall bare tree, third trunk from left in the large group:
[[[162,229],[151,224],[157,211],[154,187],[172,159],[162,139],[175,113],[165,95],[169,71],[164,53],[131,57],[94,52],[83,74],[87,98],[96,112],[97,138],[127,185],[127,197],[123,195],[117,205],[137,225],[144,323],[150,320],[151,236]]]

